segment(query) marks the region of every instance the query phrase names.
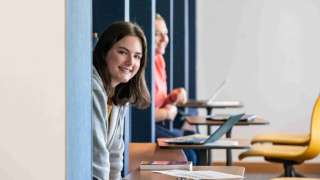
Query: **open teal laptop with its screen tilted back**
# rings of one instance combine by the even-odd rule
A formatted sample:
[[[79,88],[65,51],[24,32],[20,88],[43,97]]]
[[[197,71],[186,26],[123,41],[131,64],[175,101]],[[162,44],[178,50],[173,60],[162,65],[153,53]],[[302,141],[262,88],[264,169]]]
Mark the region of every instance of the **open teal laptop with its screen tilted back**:
[[[208,138],[205,137],[192,137],[184,136],[184,137],[177,137],[174,139],[165,140],[166,143],[177,143],[177,144],[207,144],[214,142],[222,137],[223,134],[225,134],[228,130],[231,129],[231,127],[240,120],[240,118],[244,115],[244,113],[241,114],[235,114],[231,115],[225,122],[220,125],[218,129],[216,129],[215,132],[213,132]]]

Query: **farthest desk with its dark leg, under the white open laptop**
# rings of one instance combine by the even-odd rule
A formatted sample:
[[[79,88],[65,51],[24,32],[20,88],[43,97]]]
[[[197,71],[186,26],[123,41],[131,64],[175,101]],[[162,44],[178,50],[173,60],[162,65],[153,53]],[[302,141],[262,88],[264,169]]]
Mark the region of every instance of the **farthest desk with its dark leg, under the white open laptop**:
[[[223,101],[228,101],[228,100],[223,100]],[[238,102],[239,102],[238,104],[229,104],[229,105],[225,105],[225,104],[208,105],[208,104],[205,103],[205,101],[194,100],[194,101],[186,102],[183,105],[182,104],[177,104],[176,106],[178,106],[178,107],[206,108],[207,114],[211,114],[212,108],[242,107],[243,106],[243,102],[242,101],[238,101]]]

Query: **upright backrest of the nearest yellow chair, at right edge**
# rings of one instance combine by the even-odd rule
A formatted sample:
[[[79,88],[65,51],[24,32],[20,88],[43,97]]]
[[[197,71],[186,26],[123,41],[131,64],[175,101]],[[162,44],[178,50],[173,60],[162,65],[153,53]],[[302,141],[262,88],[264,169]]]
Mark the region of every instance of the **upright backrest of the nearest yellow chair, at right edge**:
[[[311,116],[310,141],[306,150],[296,159],[303,161],[316,157],[320,152],[320,96],[317,98]]]

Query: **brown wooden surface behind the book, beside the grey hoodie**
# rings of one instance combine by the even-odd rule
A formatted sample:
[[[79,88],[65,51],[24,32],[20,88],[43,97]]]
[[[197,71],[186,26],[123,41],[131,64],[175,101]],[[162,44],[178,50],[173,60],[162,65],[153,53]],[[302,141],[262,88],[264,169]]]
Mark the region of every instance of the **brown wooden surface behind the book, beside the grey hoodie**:
[[[186,161],[182,149],[160,149],[156,143],[129,143],[129,172],[142,161]]]

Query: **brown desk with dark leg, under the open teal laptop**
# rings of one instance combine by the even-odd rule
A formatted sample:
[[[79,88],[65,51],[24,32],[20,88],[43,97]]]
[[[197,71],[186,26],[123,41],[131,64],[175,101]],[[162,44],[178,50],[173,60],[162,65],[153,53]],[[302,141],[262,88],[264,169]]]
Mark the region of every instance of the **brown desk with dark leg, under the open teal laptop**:
[[[199,165],[212,165],[211,159],[208,159],[208,149],[249,149],[251,147],[251,143],[249,139],[243,138],[220,138],[220,140],[236,140],[238,141],[237,146],[215,146],[215,145],[205,145],[205,144],[168,144],[163,140],[172,139],[172,138],[157,138],[157,142],[160,148],[168,148],[168,149],[199,149],[200,151],[200,159]]]

